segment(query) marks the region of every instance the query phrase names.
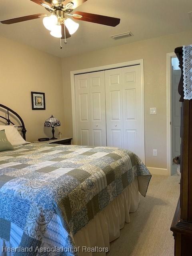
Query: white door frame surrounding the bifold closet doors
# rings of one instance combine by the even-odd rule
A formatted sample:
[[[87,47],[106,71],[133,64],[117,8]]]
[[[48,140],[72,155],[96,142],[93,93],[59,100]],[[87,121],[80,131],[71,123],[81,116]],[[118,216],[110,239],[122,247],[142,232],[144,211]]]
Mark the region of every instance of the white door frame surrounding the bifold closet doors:
[[[86,68],[81,70],[74,70],[70,72],[71,77],[71,97],[72,97],[72,122],[73,122],[73,143],[76,144],[77,142],[77,118],[76,118],[76,100],[75,100],[75,75],[90,73],[90,72],[97,72],[97,71],[104,71],[114,68],[124,68],[127,66],[134,66],[140,65],[141,69],[141,102],[142,102],[142,144],[144,145],[143,148],[143,155],[144,155],[144,164],[145,164],[145,130],[144,130],[144,60],[133,60],[128,62],[121,62],[116,64],[110,64],[106,66],[99,66],[94,68]]]

